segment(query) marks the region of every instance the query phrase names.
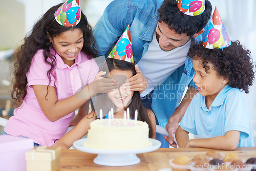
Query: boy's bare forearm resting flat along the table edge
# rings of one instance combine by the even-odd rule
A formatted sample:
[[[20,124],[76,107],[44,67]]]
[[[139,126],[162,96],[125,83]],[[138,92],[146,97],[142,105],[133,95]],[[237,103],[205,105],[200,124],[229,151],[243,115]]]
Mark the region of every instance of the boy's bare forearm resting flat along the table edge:
[[[228,131],[223,136],[191,139],[187,142],[186,147],[234,150],[238,147],[239,137],[240,131]]]

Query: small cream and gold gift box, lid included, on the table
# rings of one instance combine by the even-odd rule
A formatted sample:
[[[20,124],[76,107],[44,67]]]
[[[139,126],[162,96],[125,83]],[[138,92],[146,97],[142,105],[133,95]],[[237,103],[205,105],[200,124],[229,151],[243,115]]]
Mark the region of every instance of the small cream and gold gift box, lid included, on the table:
[[[60,147],[37,146],[26,152],[27,171],[57,171]]]

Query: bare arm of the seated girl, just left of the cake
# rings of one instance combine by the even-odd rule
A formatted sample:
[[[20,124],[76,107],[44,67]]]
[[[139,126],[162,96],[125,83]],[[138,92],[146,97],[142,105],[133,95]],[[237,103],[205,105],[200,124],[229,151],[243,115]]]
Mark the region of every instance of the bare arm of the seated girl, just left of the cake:
[[[81,121],[66,135],[60,138],[54,146],[59,146],[63,149],[68,149],[72,146],[73,142],[79,140],[88,133],[90,123],[96,119],[96,114],[92,111],[87,116],[84,116]]]

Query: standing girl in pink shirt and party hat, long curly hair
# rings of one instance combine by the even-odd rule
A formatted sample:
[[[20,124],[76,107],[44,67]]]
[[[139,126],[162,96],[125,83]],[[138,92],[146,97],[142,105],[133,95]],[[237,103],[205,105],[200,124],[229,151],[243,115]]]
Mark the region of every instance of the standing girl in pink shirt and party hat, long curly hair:
[[[119,87],[101,77],[104,72],[98,73],[94,42],[79,1],[53,6],[38,20],[14,65],[11,96],[19,107],[5,127],[7,134],[53,146],[66,133],[76,109],[88,114],[91,96]]]

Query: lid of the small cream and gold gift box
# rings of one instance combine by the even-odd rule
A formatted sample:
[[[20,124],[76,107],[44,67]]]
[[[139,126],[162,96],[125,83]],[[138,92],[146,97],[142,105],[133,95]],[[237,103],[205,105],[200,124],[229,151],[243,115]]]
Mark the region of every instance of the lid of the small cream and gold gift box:
[[[26,161],[59,160],[60,147],[38,146],[26,152]]]

